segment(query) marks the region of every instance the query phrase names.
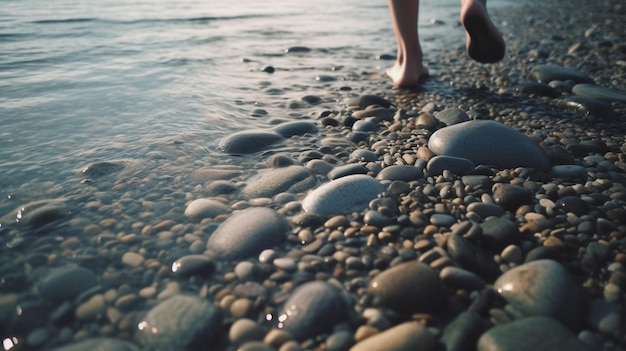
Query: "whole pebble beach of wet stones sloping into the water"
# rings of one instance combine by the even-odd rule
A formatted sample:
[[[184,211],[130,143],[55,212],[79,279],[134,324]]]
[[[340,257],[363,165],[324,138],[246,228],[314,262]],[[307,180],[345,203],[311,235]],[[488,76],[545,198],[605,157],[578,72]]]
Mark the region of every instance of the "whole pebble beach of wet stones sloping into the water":
[[[320,75],[219,155],[40,184],[0,213],[3,350],[626,350],[626,4],[491,15],[500,63],[445,38],[420,88]]]

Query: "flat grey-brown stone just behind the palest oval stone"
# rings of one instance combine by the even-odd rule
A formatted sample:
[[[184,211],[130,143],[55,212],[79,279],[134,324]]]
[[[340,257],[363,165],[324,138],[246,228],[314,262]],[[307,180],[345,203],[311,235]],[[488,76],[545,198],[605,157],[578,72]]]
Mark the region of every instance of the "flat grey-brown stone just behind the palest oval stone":
[[[248,181],[242,194],[247,198],[273,197],[279,193],[300,193],[317,185],[317,178],[302,166],[269,169]]]

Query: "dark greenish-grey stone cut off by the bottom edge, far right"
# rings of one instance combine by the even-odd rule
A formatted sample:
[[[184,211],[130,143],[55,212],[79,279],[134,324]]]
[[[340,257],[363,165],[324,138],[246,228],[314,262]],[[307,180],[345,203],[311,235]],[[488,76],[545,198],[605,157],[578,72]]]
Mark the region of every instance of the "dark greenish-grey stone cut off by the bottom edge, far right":
[[[528,317],[495,326],[478,341],[478,351],[591,351],[556,320]]]

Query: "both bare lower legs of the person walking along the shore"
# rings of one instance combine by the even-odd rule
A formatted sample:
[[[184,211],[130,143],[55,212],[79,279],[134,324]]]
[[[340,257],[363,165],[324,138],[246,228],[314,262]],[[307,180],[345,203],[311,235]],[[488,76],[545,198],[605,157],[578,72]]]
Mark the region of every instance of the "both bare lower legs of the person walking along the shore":
[[[397,60],[385,72],[396,86],[416,86],[428,76],[417,32],[419,0],[388,0],[398,43]],[[487,0],[461,0],[461,23],[471,58],[493,63],[504,57],[504,40],[487,13]]]

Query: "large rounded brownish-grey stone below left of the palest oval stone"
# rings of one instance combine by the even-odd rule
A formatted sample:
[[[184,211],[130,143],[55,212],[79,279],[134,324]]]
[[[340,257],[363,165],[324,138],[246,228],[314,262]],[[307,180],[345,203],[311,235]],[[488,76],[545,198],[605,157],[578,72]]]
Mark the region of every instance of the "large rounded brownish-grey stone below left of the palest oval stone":
[[[254,256],[285,241],[289,228],[287,219],[270,208],[248,208],[222,223],[209,238],[207,249],[227,260]]]

